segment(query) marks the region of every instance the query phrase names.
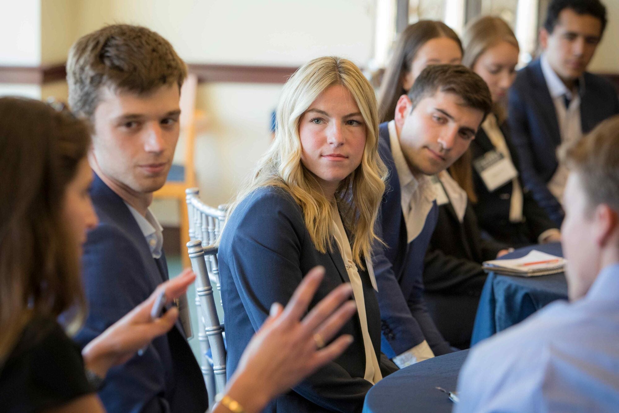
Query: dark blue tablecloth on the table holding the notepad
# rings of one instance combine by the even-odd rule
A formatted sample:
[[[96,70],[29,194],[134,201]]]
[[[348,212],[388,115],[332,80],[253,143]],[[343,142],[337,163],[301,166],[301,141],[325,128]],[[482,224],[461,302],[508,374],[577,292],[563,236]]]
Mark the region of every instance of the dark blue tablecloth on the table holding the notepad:
[[[532,249],[563,256],[561,244],[534,245],[517,249],[504,258],[519,258]],[[477,307],[471,346],[521,322],[555,300],[568,298],[564,273],[539,277],[514,277],[489,273]]]

